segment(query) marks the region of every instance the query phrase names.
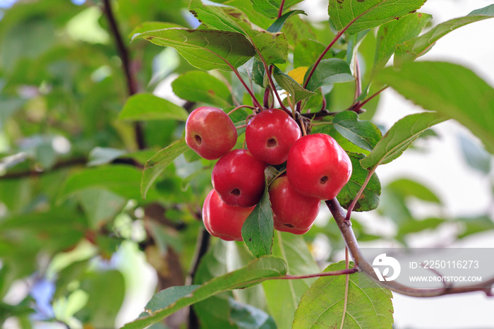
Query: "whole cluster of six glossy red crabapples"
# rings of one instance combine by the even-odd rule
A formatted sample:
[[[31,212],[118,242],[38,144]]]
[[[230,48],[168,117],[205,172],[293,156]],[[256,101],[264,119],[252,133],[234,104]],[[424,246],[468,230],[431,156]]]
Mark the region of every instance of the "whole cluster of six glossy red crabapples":
[[[215,107],[199,107],[188,116],[185,138],[201,157],[219,159],[203,221],[212,236],[224,240],[242,240],[243,222],[263,196],[269,165],[287,162],[286,174],[273,180],[268,191],[275,229],[294,234],[312,227],[320,201],[335,198],[351,176],[351,161],[331,136],[302,136],[282,109],[264,109],[248,121],[247,150],[232,150],[236,127]]]

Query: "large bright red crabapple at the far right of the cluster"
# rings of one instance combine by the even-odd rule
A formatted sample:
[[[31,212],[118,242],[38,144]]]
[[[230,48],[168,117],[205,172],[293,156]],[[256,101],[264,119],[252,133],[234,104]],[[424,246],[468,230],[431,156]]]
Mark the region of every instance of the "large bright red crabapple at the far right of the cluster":
[[[324,133],[303,136],[291,147],[287,177],[304,196],[335,198],[351,177],[351,161],[335,139]]]

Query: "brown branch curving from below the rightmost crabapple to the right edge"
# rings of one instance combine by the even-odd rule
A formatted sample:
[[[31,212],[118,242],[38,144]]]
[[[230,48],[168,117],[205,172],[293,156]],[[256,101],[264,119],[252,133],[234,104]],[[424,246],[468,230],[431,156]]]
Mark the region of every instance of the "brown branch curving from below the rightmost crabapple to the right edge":
[[[406,287],[395,281],[379,281],[378,277],[375,275],[373,266],[363,258],[359,244],[355,238],[355,234],[349,222],[345,220],[345,213],[341,205],[339,205],[336,198],[326,201],[327,208],[330,209],[335,221],[339,227],[339,231],[342,233],[345,244],[350,251],[351,258],[354,258],[356,268],[368,277],[373,279],[378,285],[386,287],[393,292],[398,292],[399,294],[404,294],[406,296],[412,297],[438,297],[446,294],[462,294],[464,292],[484,292],[487,296],[493,296],[490,291],[494,285],[494,277],[485,282],[478,283],[476,285],[468,285],[464,287],[441,287],[433,289],[418,289]]]

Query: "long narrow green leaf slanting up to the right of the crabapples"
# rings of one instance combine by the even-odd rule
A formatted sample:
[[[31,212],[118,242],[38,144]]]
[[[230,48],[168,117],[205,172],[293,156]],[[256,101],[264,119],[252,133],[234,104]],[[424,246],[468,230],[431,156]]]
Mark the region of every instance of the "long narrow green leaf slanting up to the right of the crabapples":
[[[423,131],[445,121],[446,118],[438,113],[422,112],[405,116],[397,121],[375,145],[370,154],[361,160],[363,168],[377,167],[396,159]]]

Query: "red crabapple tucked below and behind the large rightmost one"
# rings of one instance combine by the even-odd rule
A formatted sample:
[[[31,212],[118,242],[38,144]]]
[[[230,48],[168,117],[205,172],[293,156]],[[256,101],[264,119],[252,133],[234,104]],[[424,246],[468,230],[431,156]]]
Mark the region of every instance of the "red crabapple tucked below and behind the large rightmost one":
[[[304,234],[311,229],[319,213],[318,198],[302,196],[291,187],[286,176],[275,179],[269,192],[275,229],[293,234]]]

